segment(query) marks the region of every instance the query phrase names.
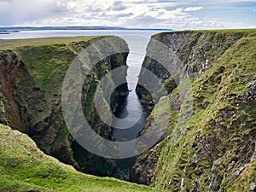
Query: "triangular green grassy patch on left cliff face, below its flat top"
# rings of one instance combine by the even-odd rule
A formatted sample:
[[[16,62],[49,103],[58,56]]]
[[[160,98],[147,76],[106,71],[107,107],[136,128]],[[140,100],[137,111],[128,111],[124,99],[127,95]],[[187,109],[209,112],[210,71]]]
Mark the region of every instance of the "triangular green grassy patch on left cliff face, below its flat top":
[[[76,56],[67,44],[29,46],[16,51],[39,87],[49,92],[61,92],[67,68]]]

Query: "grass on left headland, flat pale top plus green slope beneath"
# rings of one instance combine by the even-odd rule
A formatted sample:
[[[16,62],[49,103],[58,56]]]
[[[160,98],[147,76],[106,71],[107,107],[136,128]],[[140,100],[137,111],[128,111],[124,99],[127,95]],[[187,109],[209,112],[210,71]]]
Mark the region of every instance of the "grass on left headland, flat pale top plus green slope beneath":
[[[21,56],[36,84],[47,92],[61,93],[61,85],[79,51],[102,36],[29,38],[0,40],[1,49],[12,49]]]

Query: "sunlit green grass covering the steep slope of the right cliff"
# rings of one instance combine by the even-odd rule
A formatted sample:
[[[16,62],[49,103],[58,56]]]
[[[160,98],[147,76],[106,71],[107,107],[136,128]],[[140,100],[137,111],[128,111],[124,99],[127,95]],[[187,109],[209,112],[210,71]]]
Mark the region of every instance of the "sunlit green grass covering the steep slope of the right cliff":
[[[235,44],[230,44],[230,37],[236,38],[234,32],[244,34],[241,39],[235,41]],[[256,77],[256,38],[253,35],[255,32],[256,30],[252,29],[203,33],[205,36],[215,34],[218,38],[224,39],[213,41],[218,41],[219,47],[213,49],[211,55],[218,56],[216,58],[212,56],[210,67],[201,78],[193,81],[193,116],[187,129],[183,130],[183,136],[175,141],[173,138],[180,134],[180,130],[178,126],[175,126],[177,125],[175,118],[177,113],[170,112],[169,120],[172,129],[169,136],[160,143],[160,156],[155,168],[156,176],[153,185],[157,188],[179,191],[183,177],[185,190],[191,190],[193,184],[197,183],[202,191],[207,191],[207,185],[210,183],[208,179],[213,177],[211,171],[213,161],[218,158],[221,158],[218,162],[220,165],[218,174],[224,177],[220,186],[224,191],[248,191],[250,183],[255,183],[255,158],[246,164],[243,158],[247,157],[249,152],[241,154],[241,149],[253,148],[251,140],[252,137],[255,139],[256,103],[248,100],[243,103],[242,96],[238,97],[247,93],[248,85]],[[223,46],[227,46],[226,49],[222,50],[221,42]],[[186,46],[183,49],[187,49]],[[200,46],[200,42],[193,46]],[[224,116],[223,112],[227,113],[226,118],[221,118]],[[236,117],[232,118],[234,113]],[[241,130],[240,127],[243,124],[246,126]],[[208,141],[212,144],[215,148],[212,154],[214,158],[201,154],[200,146],[202,145],[201,143],[195,144],[195,137],[198,137],[201,143]],[[159,148],[157,150],[159,151]],[[195,173],[195,154],[203,170],[201,175]],[[236,169],[231,171],[227,169],[233,160],[237,163],[236,168],[242,165],[247,165],[247,167],[240,177],[230,181]]]

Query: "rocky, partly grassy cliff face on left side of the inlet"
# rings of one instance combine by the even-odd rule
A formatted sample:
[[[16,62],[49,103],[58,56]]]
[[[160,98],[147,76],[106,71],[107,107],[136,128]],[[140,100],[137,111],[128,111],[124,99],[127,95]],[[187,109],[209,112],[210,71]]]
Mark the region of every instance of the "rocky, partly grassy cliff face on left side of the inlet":
[[[61,85],[67,68],[81,49],[98,39],[101,38],[0,51],[0,122],[26,133],[44,153],[73,165],[79,171],[109,176],[116,169],[113,160],[81,148],[67,130],[61,111]],[[98,82],[108,71],[126,65],[129,49],[121,38],[113,38],[108,44],[116,52],[124,46],[126,52],[110,55],[96,64],[85,79],[83,94],[87,99],[83,103],[84,116],[92,129],[102,137],[113,139],[111,127],[99,120],[91,98]],[[124,79],[125,73],[120,74]],[[115,85],[109,83],[108,86]],[[127,84],[116,90],[111,108],[116,108],[119,97],[127,94],[127,90]]]

